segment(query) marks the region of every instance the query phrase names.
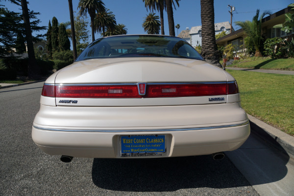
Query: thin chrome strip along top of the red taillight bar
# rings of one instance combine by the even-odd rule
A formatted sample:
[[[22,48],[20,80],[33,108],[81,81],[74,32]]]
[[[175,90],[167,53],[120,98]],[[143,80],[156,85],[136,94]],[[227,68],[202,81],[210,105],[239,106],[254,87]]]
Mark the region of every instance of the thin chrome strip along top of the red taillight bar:
[[[169,85],[169,84],[226,84],[226,83],[234,83],[235,81],[230,82],[147,82],[146,85]],[[110,86],[110,85],[137,85],[138,83],[100,83],[100,84],[55,84],[55,86]],[[49,84],[50,85],[50,84]],[[52,85],[52,84],[51,84]],[[53,84],[54,85],[54,84]]]

